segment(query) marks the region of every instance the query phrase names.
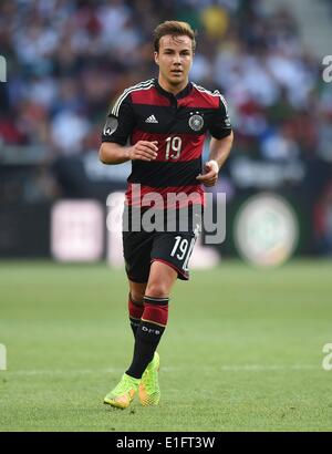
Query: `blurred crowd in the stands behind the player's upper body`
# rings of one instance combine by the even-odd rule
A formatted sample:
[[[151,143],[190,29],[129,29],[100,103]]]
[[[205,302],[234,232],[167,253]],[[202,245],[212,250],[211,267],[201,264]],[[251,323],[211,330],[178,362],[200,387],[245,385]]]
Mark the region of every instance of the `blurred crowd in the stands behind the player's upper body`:
[[[157,75],[154,28],[177,19],[198,31],[191,80],[218,89],[229,103],[234,155],[331,165],[332,84],[323,82],[321,62],[303,47],[289,10],[269,13],[264,6],[260,0],[1,0],[0,53],[8,81],[0,84],[0,147],[24,145],[24,153],[41,146],[48,162],[96,151],[116,95]],[[56,190],[48,194],[52,198]],[[331,194],[330,185],[323,195],[330,207]]]

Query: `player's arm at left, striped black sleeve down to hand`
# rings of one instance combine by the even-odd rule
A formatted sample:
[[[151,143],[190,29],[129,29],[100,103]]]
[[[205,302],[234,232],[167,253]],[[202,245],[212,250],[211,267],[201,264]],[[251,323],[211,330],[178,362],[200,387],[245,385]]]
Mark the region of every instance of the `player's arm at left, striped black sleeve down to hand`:
[[[100,147],[102,163],[122,164],[126,161],[154,161],[156,158],[157,142],[138,141],[127,146],[135,124],[136,118],[131,95],[125,91],[106,117]]]

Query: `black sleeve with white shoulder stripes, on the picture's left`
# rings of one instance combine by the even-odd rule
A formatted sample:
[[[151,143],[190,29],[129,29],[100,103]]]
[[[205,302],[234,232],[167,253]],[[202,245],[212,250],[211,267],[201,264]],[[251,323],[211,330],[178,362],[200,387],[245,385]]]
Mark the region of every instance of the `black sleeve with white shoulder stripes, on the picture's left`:
[[[107,114],[102,133],[102,142],[113,142],[125,145],[135,125],[134,110],[131,95],[124,93],[116,100],[112,111]]]

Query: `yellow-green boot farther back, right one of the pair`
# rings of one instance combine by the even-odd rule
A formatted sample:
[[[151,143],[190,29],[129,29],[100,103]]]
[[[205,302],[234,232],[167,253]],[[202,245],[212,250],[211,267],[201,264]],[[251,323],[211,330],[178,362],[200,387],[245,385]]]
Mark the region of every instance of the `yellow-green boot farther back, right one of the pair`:
[[[158,383],[160,359],[155,352],[153,360],[145,369],[138,386],[138,396],[142,405],[158,405],[160,400],[160,389]]]

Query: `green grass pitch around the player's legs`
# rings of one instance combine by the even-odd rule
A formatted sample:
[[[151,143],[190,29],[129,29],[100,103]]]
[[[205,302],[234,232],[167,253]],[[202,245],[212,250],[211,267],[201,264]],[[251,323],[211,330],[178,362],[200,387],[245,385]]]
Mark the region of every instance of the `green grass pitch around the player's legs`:
[[[123,270],[0,262],[0,431],[331,431],[332,261],[225,261],[172,296],[162,401],[103,405],[132,359]]]

